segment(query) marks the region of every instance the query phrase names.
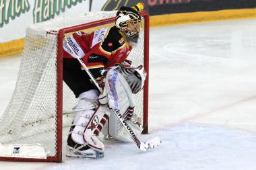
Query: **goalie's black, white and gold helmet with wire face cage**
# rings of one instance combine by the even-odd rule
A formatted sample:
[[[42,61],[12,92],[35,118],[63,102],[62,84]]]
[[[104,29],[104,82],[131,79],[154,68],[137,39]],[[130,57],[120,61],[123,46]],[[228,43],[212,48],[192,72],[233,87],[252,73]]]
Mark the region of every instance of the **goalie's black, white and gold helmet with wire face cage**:
[[[127,40],[137,42],[141,28],[141,17],[137,10],[123,6],[117,12],[116,26],[125,34]]]

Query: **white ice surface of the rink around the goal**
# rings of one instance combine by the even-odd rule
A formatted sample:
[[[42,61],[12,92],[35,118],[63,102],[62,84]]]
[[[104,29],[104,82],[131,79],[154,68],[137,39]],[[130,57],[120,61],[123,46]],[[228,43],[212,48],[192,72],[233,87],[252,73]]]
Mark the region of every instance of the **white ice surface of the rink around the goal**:
[[[20,60],[0,58],[0,114]],[[0,169],[256,169],[256,19],[151,28],[149,75],[150,134],[140,139],[160,136],[158,148],[104,142],[103,159],[64,152],[63,163],[0,162]]]

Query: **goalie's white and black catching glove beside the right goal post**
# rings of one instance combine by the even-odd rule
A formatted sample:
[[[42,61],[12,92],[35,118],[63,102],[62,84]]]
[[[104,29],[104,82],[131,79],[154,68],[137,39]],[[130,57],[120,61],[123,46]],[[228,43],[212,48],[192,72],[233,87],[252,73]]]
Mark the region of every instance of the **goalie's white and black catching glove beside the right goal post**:
[[[142,65],[136,68],[122,68],[121,74],[125,77],[133,93],[138,93],[143,89],[147,73]]]

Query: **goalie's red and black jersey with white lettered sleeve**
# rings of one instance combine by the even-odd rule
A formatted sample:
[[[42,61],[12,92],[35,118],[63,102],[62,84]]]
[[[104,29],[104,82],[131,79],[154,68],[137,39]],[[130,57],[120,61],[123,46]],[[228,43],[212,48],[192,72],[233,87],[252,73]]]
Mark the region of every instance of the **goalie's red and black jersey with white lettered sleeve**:
[[[132,49],[115,26],[101,28],[90,34],[76,32],[67,38],[67,42],[94,77],[101,77],[98,74],[102,69],[121,64]],[[75,57],[66,43],[63,43],[63,49],[64,58]]]

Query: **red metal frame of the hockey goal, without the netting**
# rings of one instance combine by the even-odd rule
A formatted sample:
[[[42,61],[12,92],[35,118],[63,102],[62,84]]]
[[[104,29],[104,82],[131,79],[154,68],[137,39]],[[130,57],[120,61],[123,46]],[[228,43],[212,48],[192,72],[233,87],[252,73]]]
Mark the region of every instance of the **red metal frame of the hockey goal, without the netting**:
[[[139,12],[144,18],[144,68],[147,72],[147,77],[143,87],[143,134],[148,134],[148,83],[149,83],[149,20],[150,17],[147,11]],[[46,157],[46,159],[30,159],[19,157],[0,157],[0,161],[24,161],[24,162],[55,162],[62,161],[62,140],[63,140],[63,37],[65,34],[85,30],[88,28],[110,24],[115,22],[115,17],[103,19],[88,24],[63,28],[57,33],[57,102],[56,102],[56,154],[55,156]]]

